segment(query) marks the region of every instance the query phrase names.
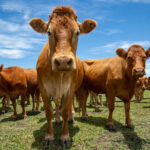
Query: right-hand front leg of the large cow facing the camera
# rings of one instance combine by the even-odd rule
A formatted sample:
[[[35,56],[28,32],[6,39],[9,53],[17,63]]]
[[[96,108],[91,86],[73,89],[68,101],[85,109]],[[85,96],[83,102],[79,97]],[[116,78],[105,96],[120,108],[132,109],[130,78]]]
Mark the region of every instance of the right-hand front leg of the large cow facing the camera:
[[[63,125],[62,125],[62,134],[61,134],[61,144],[63,147],[65,146],[66,148],[69,148],[71,146],[69,130],[68,130],[68,119],[72,107],[72,100],[73,100],[73,95],[66,96],[62,99]]]

